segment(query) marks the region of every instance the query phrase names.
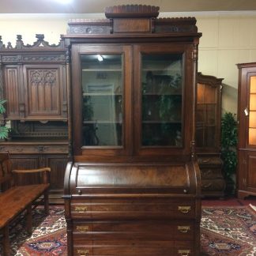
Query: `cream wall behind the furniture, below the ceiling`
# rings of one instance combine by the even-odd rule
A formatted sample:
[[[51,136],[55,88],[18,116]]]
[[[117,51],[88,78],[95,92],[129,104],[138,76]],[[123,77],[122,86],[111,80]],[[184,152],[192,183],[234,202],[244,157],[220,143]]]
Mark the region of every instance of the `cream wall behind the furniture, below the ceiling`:
[[[199,44],[198,71],[224,78],[223,111],[236,113],[237,63],[256,62],[256,12],[160,13],[160,17],[191,17],[198,20],[202,32]],[[82,14],[0,14],[0,35],[3,43],[15,46],[16,35],[25,44],[44,34],[49,43],[58,43],[66,34],[70,18],[102,18],[104,13]]]

